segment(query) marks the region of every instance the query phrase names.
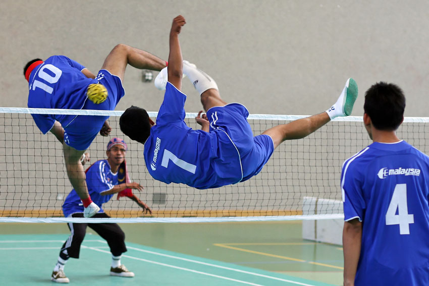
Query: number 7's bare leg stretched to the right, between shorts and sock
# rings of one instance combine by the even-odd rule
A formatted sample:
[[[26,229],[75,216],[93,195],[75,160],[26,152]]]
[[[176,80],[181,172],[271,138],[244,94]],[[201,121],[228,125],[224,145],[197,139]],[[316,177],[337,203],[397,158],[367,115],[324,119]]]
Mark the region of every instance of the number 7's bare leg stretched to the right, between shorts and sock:
[[[328,113],[323,112],[318,115],[292,121],[288,124],[275,126],[264,131],[262,134],[273,138],[274,148],[277,148],[283,141],[304,138],[330,121]]]

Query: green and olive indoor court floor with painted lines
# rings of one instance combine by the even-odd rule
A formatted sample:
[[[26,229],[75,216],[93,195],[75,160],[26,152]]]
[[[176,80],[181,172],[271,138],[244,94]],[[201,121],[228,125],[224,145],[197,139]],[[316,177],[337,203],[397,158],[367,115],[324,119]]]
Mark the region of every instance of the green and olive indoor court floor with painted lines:
[[[65,272],[73,285],[341,285],[342,249],[304,241],[301,223],[121,224],[134,278],[109,276],[106,243],[88,228],[81,258]],[[68,238],[66,224],[0,224],[5,285],[43,285]]]

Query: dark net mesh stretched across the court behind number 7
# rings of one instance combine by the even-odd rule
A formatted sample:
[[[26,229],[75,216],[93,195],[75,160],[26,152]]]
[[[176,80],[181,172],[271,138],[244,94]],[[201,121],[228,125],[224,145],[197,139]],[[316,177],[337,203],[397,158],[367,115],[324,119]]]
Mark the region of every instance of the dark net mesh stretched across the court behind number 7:
[[[66,174],[62,145],[52,134],[42,135],[30,114],[3,112],[0,113],[1,220],[62,217],[62,204],[73,189]],[[143,192],[134,190],[134,194],[146,202],[153,213],[144,214],[135,202],[128,198],[117,200],[116,195],[103,205],[103,209],[112,217],[130,221],[136,221],[136,218],[146,221],[163,221],[159,218],[171,218],[166,221],[179,221],[179,218],[180,221],[183,218],[219,221],[213,219],[337,216],[343,212],[341,204],[327,203],[317,213],[311,213],[306,208],[314,209],[314,206],[306,206],[305,198],[311,204],[318,200],[319,203],[340,201],[342,163],[370,144],[361,117],[335,120],[304,139],[282,143],[260,174],[252,179],[217,189],[197,190],[152,179],[144,164],[143,145],[131,141],[119,129],[121,111],[104,112],[111,115],[112,134],[110,137],[97,136],[88,152],[93,163],[106,157],[105,148],[110,138],[121,137],[127,142],[130,179],[144,187]],[[151,112],[150,116],[155,117],[156,113]],[[185,121],[189,127],[197,129],[194,116],[194,113],[187,113]],[[300,117],[251,115],[248,121],[254,134],[259,135],[297,118]],[[429,151],[425,136],[428,128],[429,121],[425,118],[407,118],[399,128],[398,136],[426,153]]]

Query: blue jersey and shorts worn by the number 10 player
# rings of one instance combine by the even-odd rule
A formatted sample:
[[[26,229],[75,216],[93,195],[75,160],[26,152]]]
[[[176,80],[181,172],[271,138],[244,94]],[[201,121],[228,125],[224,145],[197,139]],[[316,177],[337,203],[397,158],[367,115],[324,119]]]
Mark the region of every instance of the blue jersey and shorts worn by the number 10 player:
[[[121,79],[107,70],[100,70],[95,79],[87,78],[81,72],[83,69],[84,66],[67,56],[50,56],[30,74],[28,107],[114,110],[125,94]],[[101,83],[109,94],[106,100],[99,104],[88,100],[86,96],[88,86],[97,83]],[[60,122],[66,132],[66,143],[77,150],[87,149],[105,120],[109,118],[67,114],[32,114],[32,116],[43,134],[53,127],[55,121]],[[75,138],[76,140],[72,140]]]

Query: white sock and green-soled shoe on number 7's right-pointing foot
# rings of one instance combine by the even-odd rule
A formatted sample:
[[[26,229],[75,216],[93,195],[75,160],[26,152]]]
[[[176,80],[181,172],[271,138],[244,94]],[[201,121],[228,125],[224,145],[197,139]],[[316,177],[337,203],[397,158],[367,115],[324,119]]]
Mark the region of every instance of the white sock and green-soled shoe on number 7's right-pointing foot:
[[[358,93],[357,84],[354,79],[349,78],[340,94],[337,102],[329,108],[326,112],[331,119],[340,116],[349,116],[352,113],[354,102],[356,101]]]

